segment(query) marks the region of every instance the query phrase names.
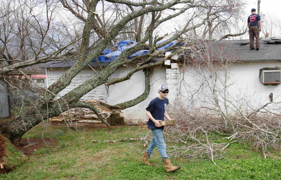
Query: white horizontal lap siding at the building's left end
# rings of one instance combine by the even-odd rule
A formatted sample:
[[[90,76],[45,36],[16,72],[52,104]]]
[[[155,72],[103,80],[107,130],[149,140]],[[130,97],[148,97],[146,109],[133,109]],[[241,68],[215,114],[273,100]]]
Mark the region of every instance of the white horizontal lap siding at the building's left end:
[[[47,86],[54,84],[66,71],[68,68],[48,68],[48,75],[47,75]],[[99,72],[100,70],[96,70]],[[71,80],[71,84],[68,85],[64,90],[59,93],[59,96],[64,96],[69,91],[73,90],[74,88],[80,86],[88,79],[91,79],[95,76],[95,72],[90,69],[82,70],[76,77]],[[95,99],[97,101],[102,101],[106,103],[106,93],[105,93],[105,85],[101,85],[93,89],[92,91],[88,92],[84,96],[80,98],[80,100],[85,101],[89,99]]]

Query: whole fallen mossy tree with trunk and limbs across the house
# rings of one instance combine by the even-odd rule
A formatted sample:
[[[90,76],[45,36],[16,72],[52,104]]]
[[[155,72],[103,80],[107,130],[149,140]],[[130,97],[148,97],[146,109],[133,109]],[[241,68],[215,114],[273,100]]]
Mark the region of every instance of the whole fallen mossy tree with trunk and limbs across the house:
[[[78,19],[82,20],[84,22],[83,27],[83,35],[82,35],[82,42],[79,47],[79,53],[77,55],[77,61],[76,63],[67,70],[55,83],[53,83],[49,88],[46,90],[46,93],[40,97],[40,99],[35,103],[34,107],[25,110],[23,113],[19,114],[17,117],[15,117],[10,122],[0,123],[0,134],[3,134],[6,138],[8,138],[13,144],[19,145],[19,142],[21,140],[21,137],[29,131],[32,127],[37,125],[38,123],[42,122],[43,120],[46,120],[50,117],[57,116],[61,114],[62,112],[75,107],[87,107],[92,109],[98,117],[104,122],[105,120],[102,119],[102,117],[99,115],[99,110],[97,110],[94,106],[88,105],[85,102],[81,102],[80,98],[90,92],[92,89],[95,89],[97,86],[100,86],[102,84],[105,84],[106,86],[109,86],[111,84],[116,84],[122,81],[125,81],[127,79],[130,79],[130,77],[137,71],[145,70],[145,91],[144,93],[131,100],[124,103],[120,103],[115,105],[116,107],[119,107],[120,109],[125,109],[128,107],[132,107],[141,101],[143,101],[149,94],[150,91],[150,68],[155,65],[160,65],[164,63],[165,58],[169,58],[173,55],[173,53],[167,57],[165,57],[161,62],[153,62],[153,58],[156,57],[159,54],[165,53],[170,49],[165,49],[164,51],[155,51],[155,49],[160,48],[162,46],[165,46],[169,42],[172,42],[177,39],[181,39],[182,34],[188,32],[189,30],[194,30],[195,28],[203,25],[206,21],[206,19],[202,18],[203,20],[201,22],[198,22],[196,25],[189,26],[189,22],[191,22],[194,17],[191,17],[191,20],[187,22],[187,24],[182,28],[181,30],[177,30],[177,32],[174,33],[170,38],[168,38],[166,41],[157,44],[156,48],[156,42],[159,40],[157,39],[157,36],[154,38],[153,42],[153,35],[155,29],[163,22],[168,21],[174,17],[177,17],[183,13],[186,12],[189,8],[204,8],[202,4],[194,4],[193,0],[171,0],[171,1],[145,1],[142,2],[132,2],[128,0],[106,0],[109,3],[116,4],[122,4],[129,6],[130,9],[133,9],[131,13],[128,13],[126,16],[124,16],[119,22],[116,22],[111,25],[110,29],[106,29],[106,25],[102,24],[102,20],[97,14],[97,7],[100,0],[92,0],[92,1],[85,1],[87,2],[85,4],[86,8],[81,8],[84,6],[80,6],[80,2],[78,4],[75,4],[75,0],[73,2],[73,6],[68,1],[60,0],[62,5],[67,8],[71,13],[73,13]],[[83,1],[84,2],[84,1]],[[174,8],[175,5],[181,4],[182,8]],[[75,8],[77,9],[81,8],[83,13],[80,12],[74,12]],[[180,6],[179,6],[180,7]],[[135,8],[135,9],[134,9]],[[164,10],[174,10],[174,14],[167,15],[165,17],[161,17],[162,11]],[[214,11],[217,13],[217,11]],[[82,15],[87,14],[87,18],[82,17]],[[147,16],[149,13],[152,13],[152,18],[150,19],[149,27],[146,31],[141,30],[140,28],[143,27],[143,17]],[[199,13],[201,14],[201,12]],[[102,15],[104,17],[104,15]],[[81,72],[85,67],[89,65],[89,63],[96,59],[97,56],[100,55],[100,53],[107,48],[109,44],[112,44],[113,41],[115,41],[117,36],[120,34],[122,30],[124,30],[124,27],[128,25],[129,22],[135,21],[137,22],[138,18],[140,18],[139,26],[135,26],[135,30],[138,29],[136,32],[136,39],[138,41],[138,44],[136,46],[126,49],[125,51],[122,51],[122,54],[119,55],[114,61],[112,61],[108,66],[103,68],[101,72],[97,73],[94,77],[91,79],[88,79],[86,82],[81,84],[80,86],[76,87],[75,89],[71,90],[67,94],[65,94],[63,97],[56,99],[57,94],[59,94],[63,89],[65,89],[68,85],[71,84],[71,80],[78,75],[79,72]],[[118,18],[116,18],[118,19]],[[100,23],[100,25],[95,25],[94,23]],[[140,36],[140,34],[143,33],[143,37]],[[92,33],[95,33],[99,39],[95,42],[92,42],[93,39],[91,39]],[[150,44],[146,44],[145,42],[148,41]],[[75,40],[76,41],[76,40]],[[92,43],[92,44],[90,44]],[[146,55],[138,56],[133,59],[128,59],[128,56],[143,50],[147,49],[149,52]],[[63,50],[63,49],[62,49]],[[61,50],[61,51],[62,51]],[[60,51],[59,51],[60,52]],[[54,55],[56,56],[59,54],[59,52],[55,52]],[[181,51],[178,51],[177,53],[180,53]],[[39,54],[39,53],[38,53]],[[51,56],[53,57],[52,53]],[[0,69],[0,76],[3,76],[13,70],[17,70],[19,68],[27,67],[28,65],[34,65],[37,63],[46,62],[41,61],[38,58],[35,58],[35,60],[32,63],[25,63],[25,62],[19,62],[14,63],[13,65],[3,67]],[[119,79],[109,79],[110,76],[121,66],[131,63],[139,63],[136,68],[128,72],[128,74],[122,78]]]

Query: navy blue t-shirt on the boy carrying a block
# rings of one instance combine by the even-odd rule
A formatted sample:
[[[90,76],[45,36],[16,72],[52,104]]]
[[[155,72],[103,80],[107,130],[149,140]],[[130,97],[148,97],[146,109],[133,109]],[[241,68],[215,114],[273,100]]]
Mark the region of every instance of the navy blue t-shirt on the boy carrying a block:
[[[164,113],[168,104],[169,104],[168,98],[164,98],[164,100],[161,100],[157,97],[154,98],[152,101],[150,101],[146,110],[151,113],[152,117],[155,120],[164,121]],[[155,123],[151,119],[148,120],[147,125],[149,129],[164,129],[164,126],[156,127]]]

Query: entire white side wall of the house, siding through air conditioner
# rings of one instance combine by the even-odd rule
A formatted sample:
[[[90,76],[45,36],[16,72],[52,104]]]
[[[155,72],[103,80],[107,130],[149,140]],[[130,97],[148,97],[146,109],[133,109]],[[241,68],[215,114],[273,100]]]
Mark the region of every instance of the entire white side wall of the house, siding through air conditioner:
[[[258,106],[264,103],[270,102],[269,94],[273,93],[273,99],[275,102],[281,101],[281,85],[263,85],[260,83],[260,69],[262,68],[275,68],[281,67],[281,63],[277,62],[261,62],[261,63],[235,63],[229,70],[228,80],[229,83],[233,83],[229,86],[229,95],[232,99],[245,97],[251,102],[251,105]],[[129,67],[121,67],[110,77],[120,78],[126,76],[127,72],[130,71]],[[68,68],[48,68],[47,70],[47,86],[56,82],[61,75],[66,72]],[[98,71],[98,70],[97,70]],[[135,123],[141,123],[147,121],[148,118],[145,115],[145,108],[149,102],[158,96],[158,87],[160,84],[166,84],[170,90],[168,94],[169,103],[188,101],[191,99],[191,90],[199,89],[200,82],[193,78],[194,75],[191,73],[192,68],[184,68],[181,66],[180,69],[166,69],[160,67],[154,67],[151,75],[151,88],[150,94],[145,101],[125,110],[122,110],[122,116],[125,117],[126,121],[133,121]],[[99,71],[98,71],[99,72]],[[184,72],[184,73],[183,73]],[[79,86],[86,80],[90,79],[95,75],[90,69],[82,70],[71,82],[69,86],[60,92],[60,95],[71,91],[73,88]],[[195,75],[197,77],[197,75]],[[109,105],[116,105],[130,101],[141,94],[145,90],[145,76],[143,71],[136,72],[131,76],[130,79],[109,86],[108,94],[105,90],[105,86],[99,86],[88,94],[84,95],[81,100],[96,99],[98,101],[106,102]],[[200,93],[195,93],[193,98],[197,98],[193,106],[200,108],[204,103],[208,102],[208,98],[200,97]],[[210,105],[210,103],[209,103]]]

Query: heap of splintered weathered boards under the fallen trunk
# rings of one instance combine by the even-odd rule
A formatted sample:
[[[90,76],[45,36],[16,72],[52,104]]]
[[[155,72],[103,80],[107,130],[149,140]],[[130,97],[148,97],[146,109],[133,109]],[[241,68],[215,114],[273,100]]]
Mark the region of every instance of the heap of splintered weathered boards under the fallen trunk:
[[[65,111],[59,116],[50,118],[52,124],[64,123],[64,122],[91,122],[91,123],[101,123],[97,115],[86,108],[73,108],[69,111]]]

